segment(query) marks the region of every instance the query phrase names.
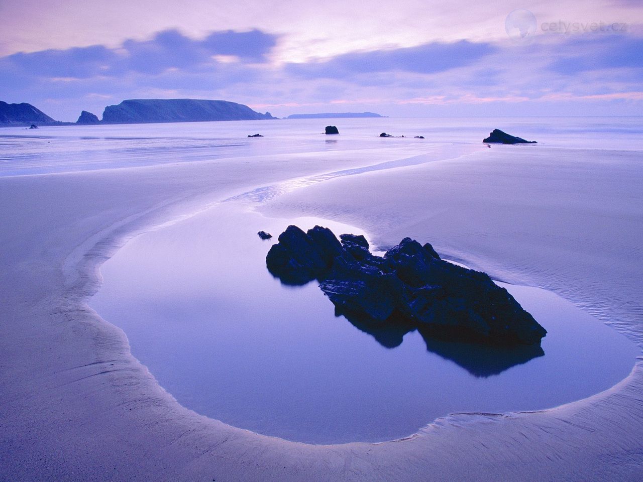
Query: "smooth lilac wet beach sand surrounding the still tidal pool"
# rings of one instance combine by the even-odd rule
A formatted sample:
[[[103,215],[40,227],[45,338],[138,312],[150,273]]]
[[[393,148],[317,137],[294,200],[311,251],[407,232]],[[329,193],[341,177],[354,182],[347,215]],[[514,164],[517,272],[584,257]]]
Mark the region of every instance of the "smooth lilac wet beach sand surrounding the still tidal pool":
[[[643,346],[636,153],[579,164],[544,152],[514,170],[515,152],[332,179],[264,210],[345,220],[382,246],[402,235],[430,240],[499,278],[552,289]],[[100,262],[141,229],[254,186],[346,167],[275,159],[0,179],[0,478],[640,480],[640,358],[614,388],[556,409],[451,415],[406,440],[314,446],[179,406],[131,357],[123,332],[87,308]]]

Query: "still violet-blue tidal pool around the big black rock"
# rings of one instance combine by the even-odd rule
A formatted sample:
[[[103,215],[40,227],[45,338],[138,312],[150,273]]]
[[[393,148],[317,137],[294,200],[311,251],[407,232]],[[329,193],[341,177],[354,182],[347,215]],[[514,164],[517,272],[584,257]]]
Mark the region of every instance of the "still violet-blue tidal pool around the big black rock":
[[[359,233],[219,204],[128,242],[101,267],[90,305],[183,406],[308,443],[392,440],[449,413],[547,409],[610,388],[638,355],[565,299],[514,285],[503,286],[548,331],[541,348],[365,332],[334,315],[315,281],[289,287],[269,274],[266,253],[288,224]]]

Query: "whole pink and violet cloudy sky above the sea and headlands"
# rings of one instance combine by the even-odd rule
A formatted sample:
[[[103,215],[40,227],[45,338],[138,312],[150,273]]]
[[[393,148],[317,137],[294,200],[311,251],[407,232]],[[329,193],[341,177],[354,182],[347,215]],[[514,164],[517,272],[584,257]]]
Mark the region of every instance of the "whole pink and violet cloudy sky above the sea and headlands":
[[[643,0],[0,0],[0,100],[275,116],[643,115]]]

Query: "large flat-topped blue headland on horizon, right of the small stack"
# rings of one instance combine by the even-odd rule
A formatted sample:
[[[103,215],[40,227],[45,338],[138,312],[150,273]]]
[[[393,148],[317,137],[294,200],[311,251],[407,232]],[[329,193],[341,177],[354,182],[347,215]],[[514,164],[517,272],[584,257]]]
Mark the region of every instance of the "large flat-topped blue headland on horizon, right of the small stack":
[[[102,121],[131,124],[262,119],[274,118],[270,112],[260,114],[247,105],[226,100],[132,99],[105,107]]]

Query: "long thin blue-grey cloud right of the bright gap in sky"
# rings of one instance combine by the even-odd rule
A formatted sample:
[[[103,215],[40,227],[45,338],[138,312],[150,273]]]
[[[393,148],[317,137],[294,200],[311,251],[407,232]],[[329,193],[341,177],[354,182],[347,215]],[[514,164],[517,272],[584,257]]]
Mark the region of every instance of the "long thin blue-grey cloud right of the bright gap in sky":
[[[304,78],[345,78],[396,71],[428,74],[468,66],[495,51],[495,46],[482,42],[431,42],[416,47],[346,53],[325,62],[288,64],[285,68]]]

